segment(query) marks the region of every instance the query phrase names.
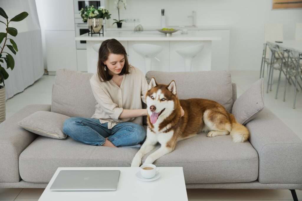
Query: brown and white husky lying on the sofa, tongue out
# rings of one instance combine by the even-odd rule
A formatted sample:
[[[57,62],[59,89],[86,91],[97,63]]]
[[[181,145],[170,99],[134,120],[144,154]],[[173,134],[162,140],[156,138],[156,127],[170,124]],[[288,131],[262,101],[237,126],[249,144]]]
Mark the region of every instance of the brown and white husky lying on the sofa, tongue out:
[[[230,134],[233,142],[244,142],[249,138],[248,129],[236,122],[234,116],[219,103],[207,99],[179,100],[174,80],[169,85],[163,85],[157,84],[153,77],[146,93],[146,102],[147,137],[134,156],[131,167],[139,167],[143,156],[154,149],[157,142],[161,147],[146,158],[146,164],[152,164],[159,157],[172,152],[177,141],[194,137],[200,132],[208,132],[207,137]],[[150,121],[151,106],[156,107],[156,113],[161,112],[154,124]],[[185,111],[183,117],[181,107]]]

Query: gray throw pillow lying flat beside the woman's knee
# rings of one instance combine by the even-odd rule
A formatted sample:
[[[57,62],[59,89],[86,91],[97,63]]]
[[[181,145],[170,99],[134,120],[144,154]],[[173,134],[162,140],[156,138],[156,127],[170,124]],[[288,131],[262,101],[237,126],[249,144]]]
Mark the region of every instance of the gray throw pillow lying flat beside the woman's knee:
[[[68,118],[68,116],[55,112],[36,111],[17,124],[38,135],[55,139],[65,139],[66,135],[63,133],[63,124]]]

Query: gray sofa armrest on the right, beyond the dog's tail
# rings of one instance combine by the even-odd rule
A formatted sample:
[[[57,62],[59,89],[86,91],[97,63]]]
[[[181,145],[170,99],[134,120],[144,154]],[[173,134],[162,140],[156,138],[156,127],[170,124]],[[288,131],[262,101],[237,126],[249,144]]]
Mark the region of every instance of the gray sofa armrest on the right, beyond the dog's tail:
[[[259,155],[258,181],[262,184],[301,184],[301,139],[268,108],[246,127],[250,131],[249,141]]]

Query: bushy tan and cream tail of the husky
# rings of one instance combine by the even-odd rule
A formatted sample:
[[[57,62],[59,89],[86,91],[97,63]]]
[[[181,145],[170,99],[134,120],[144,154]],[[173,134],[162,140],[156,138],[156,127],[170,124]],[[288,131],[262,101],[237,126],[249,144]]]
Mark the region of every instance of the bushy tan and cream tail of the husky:
[[[249,130],[242,124],[239,124],[236,121],[234,115],[232,115],[231,113],[229,113],[229,117],[232,124],[230,135],[233,138],[233,142],[244,142],[249,139]]]

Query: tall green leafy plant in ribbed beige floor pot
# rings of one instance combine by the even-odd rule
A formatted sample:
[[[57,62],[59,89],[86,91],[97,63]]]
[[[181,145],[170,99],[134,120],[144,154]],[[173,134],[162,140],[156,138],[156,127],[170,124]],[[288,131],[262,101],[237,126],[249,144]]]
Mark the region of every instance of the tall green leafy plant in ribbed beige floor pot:
[[[16,15],[15,17],[11,18],[11,20],[8,21],[8,16],[5,13],[5,11],[0,7],[0,15],[2,17],[5,18],[6,23],[1,21],[1,23],[5,24],[6,28],[6,33],[1,32],[0,33],[0,48],[1,48],[1,52],[0,52],[0,62],[2,63],[2,65],[4,65],[4,61],[6,63],[6,69],[11,68],[11,70],[14,69],[14,65],[15,65],[15,61],[14,58],[11,56],[11,54],[9,54],[8,52],[4,51],[5,46],[8,47],[8,49],[14,53],[14,55],[16,55],[16,53],[18,52],[18,47],[17,44],[14,42],[13,39],[8,38],[8,34],[10,36],[17,36],[18,31],[16,28],[14,27],[8,27],[8,24],[10,22],[19,22],[21,20],[24,20],[25,17],[27,17],[28,13],[27,12],[22,12],[18,15]],[[5,21],[4,20],[4,21]],[[11,44],[7,44],[7,42],[10,42]],[[3,42],[3,45],[1,45],[1,43]],[[4,56],[5,54],[5,56]],[[8,78],[8,73],[6,72],[5,68],[2,67],[0,63],[0,123],[3,122],[5,120],[5,83],[4,80],[6,80]],[[3,86],[2,86],[3,84]]]

